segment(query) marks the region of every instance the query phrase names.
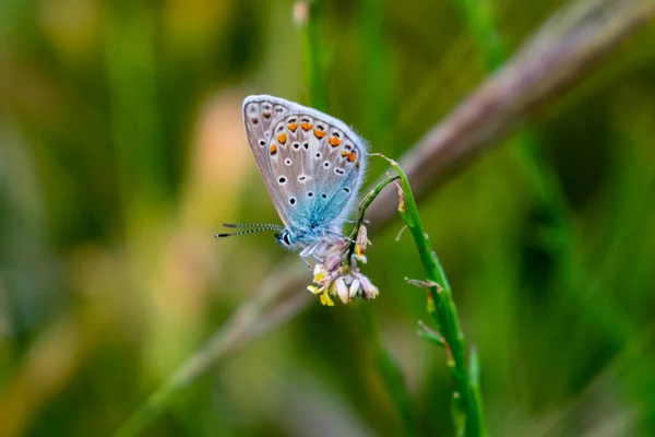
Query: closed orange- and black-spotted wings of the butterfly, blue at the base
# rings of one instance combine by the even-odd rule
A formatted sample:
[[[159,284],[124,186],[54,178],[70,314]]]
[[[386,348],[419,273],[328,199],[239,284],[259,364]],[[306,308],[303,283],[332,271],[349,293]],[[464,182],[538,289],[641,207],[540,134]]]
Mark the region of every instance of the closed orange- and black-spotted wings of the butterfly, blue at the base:
[[[247,99],[245,114],[257,114],[250,109],[255,102],[260,108],[264,102],[284,110],[279,111],[282,117],[273,119],[271,129],[263,131],[263,146],[261,141],[253,145],[250,133],[249,141],[253,151],[257,145],[262,174],[267,163],[264,179],[283,222],[291,232],[341,227],[357,199],[366,144],[333,117],[291,102],[262,97],[249,97],[253,101]]]

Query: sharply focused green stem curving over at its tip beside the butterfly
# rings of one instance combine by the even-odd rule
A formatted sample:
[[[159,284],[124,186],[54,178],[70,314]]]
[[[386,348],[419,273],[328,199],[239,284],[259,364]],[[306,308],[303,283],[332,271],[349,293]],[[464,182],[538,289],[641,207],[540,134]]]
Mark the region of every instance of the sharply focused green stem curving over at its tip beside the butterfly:
[[[460,317],[453,302],[452,290],[439,262],[439,258],[434,250],[432,250],[430,240],[424,232],[407,176],[395,161],[377,153],[372,155],[386,160],[401,177],[402,192],[398,211],[414,237],[428,280],[436,283],[436,285],[428,283],[428,296],[429,300],[431,300],[431,305],[429,304],[428,308],[443,336],[448,353],[448,366],[455,380],[456,392],[453,394],[453,400],[454,411],[457,413],[455,415],[455,425],[458,428],[458,434],[486,436],[479,387],[473,378],[474,375],[466,368],[466,343],[460,328]],[[475,376],[477,376],[479,374],[477,357],[473,364],[472,369],[476,371]]]

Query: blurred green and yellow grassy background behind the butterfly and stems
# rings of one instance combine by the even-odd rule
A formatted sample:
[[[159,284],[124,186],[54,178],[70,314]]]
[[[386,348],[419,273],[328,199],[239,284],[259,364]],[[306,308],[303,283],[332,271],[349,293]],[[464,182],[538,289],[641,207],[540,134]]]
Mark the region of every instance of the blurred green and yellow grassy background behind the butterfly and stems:
[[[485,4],[511,52],[563,2]],[[213,238],[223,222],[278,222],[240,110],[249,94],[311,102],[293,10],[0,2],[0,436],[110,435],[295,257],[266,234]],[[497,64],[465,15],[454,0],[322,2],[330,113],[402,155]],[[653,42],[651,24],[419,204],[480,354],[493,435],[655,435]],[[370,181],[386,168],[371,167]],[[453,435],[452,379],[415,334],[425,295],[404,277],[424,273],[400,227],[370,235],[377,300],[315,299],[146,435],[402,435],[362,305],[419,434]]]

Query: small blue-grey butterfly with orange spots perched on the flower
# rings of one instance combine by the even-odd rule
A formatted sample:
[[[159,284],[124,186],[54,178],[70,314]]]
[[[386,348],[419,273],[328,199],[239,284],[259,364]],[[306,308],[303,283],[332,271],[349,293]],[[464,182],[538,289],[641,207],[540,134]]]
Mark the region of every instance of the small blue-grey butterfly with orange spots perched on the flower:
[[[226,224],[251,229],[216,237],[275,231],[282,247],[302,249],[306,262],[317,258],[345,238],[341,231],[357,203],[368,144],[343,121],[284,98],[252,95],[242,110],[250,150],[284,226]]]

